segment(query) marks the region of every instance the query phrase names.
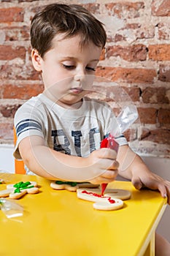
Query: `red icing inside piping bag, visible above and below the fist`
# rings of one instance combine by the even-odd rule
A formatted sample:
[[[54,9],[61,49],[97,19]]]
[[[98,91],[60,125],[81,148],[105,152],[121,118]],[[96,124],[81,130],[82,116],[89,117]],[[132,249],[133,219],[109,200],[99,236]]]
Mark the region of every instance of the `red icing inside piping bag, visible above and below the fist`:
[[[101,141],[101,148],[112,148],[116,152],[118,151],[119,144],[115,141],[114,137],[112,135],[109,135],[108,138],[105,138]],[[107,188],[107,183],[101,184],[101,195],[104,195],[104,191]]]

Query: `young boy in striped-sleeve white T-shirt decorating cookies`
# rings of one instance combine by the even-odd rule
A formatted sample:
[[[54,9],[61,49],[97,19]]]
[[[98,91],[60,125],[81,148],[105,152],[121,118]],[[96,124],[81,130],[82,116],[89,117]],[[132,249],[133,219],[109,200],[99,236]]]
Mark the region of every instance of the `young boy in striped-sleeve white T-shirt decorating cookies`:
[[[151,173],[123,135],[116,138],[117,154],[100,148],[115,116],[106,103],[85,95],[92,89],[106,39],[102,24],[79,5],[50,4],[34,16],[31,57],[45,90],[15,114],[14,156],[35,174],[53,180],[101,184],[119,173],[136,189],[158,189],[170,203],[170,182]]]

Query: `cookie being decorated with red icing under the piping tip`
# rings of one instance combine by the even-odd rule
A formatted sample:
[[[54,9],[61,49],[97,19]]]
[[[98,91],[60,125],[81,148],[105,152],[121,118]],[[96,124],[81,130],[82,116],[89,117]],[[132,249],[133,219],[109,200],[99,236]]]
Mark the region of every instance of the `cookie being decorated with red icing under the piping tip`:
[[[93,189],[77,189],[77,197],[82,200],[95,202],[93,203],[93,208],[96,210],[113,211],[123,208],[123,200],[97,194]]]

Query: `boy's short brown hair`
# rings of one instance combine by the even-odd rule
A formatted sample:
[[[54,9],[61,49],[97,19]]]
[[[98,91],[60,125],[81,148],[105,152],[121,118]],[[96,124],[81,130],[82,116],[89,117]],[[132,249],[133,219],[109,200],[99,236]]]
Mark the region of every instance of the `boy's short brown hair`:
[[[53,48],[57,34],[65,34],[64,38],[79,34],[81,45],[93,42],[102,48],[107,40],[103,24],[77,4],[49,4],[32,19],[31,45],[42,58]]]

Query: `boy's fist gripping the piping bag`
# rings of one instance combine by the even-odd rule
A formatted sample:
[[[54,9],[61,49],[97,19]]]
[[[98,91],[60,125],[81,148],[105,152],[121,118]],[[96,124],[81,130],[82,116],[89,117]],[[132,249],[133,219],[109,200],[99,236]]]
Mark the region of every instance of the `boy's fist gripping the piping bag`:
[[[116,151],[110,148],[100,148],[93,151],[88,157],[88,165],[93,166],[93,173],[96,173],[96,178],[90,180],[90,183],[102,184],[115,181],[119,167],[116,157]],[[101,175],[98,176],[99,173]]]

